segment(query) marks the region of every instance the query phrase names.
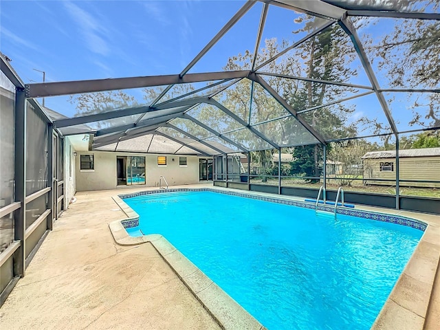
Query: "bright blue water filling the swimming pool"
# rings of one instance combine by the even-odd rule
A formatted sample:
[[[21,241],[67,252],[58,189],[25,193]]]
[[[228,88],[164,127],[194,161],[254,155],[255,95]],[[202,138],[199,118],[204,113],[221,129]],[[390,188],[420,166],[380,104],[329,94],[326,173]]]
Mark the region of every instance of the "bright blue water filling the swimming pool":
[[[423,232],[215,192],[124,199],[270,330],[370,329]]]

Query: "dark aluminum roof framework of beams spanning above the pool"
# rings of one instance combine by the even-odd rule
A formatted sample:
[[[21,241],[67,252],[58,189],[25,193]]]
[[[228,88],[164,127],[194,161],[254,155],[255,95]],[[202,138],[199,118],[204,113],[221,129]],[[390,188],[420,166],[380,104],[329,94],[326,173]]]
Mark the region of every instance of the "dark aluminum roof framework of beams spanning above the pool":
[[[399,138],[399,132],[397,126],[395,124],[395,120],[393,119],[393,115],[391,114],[390,109],[388,108],[388,104],[384,98],[384,92],[419,92],[419,93],[439,93],[439,89],[412,89],[412,88],[404,88],[404,89],[392,89],[386,88],[382,89],[377,81],[375,76],[375,72],[371,67],[371,62],[366,55],[364,50],[364,46],[360,41],[358,33],[351,23],[350,17],[389,17],[389,18],[401,18],[401,19],[420,19],[420,20],[440,20],[440,14],[434,13],[423,13],[423,12],[395,12],[391,10],[386,10],[386,8],[380,8],[378,10],[366,10],[365,8],[355,9],[356,5],[349,5],[347,8],[344,8],[342,4],[338,5],[336,1],[320,1],[320,0],[296,0],[296,1],[287,1],[287,0],[260,0],[263,3],[261,10],[261,17],[259,21],[258,30],[256,32],[256,41],[254,47],[254,55],[252,58],[251,69],[250,70],[239,70],[239,71],[230,71],[230,72],[206,72],[201,74],[192,74],[188,73],[192,67],[210,50],[212,47],[254,6],[256,1],[248,0],[241,7],[241,9],[234,14],[234,16],[226,23],[223,28],[212,38],[212,40],[195,56],[195,58],[188,63],[188,65],[182,70],[180,74],[177,75],[168,75],[168,76],[145,76],[145,77],[133,77],[133,78],[115,78],[115,79],[104,79],[104,80],[84,80],[84,81],[76,81],[76,82],[61,82],[61,83],[44,83],[44,84],[27,84],[25,85],[25,94],[28,98],[36,98],[36,97],[47,97],[47,96],[58,96],[58,95],[66,95],[66,94],[78,94],[78,93],[87,93],[93,91],[109,91],[114,89],[129,89],[129,88],[137,88],[137,87],[154,87],[154,86],[167,86],[162,93],[151,102],[149,105],[144,105],[141,107],[132,107],[126,109],[116,109],[115,111],[107,111],[105,113],[98,113],[96,115],[83,116],[78,118],[70,118],[65,120],[58,120],[54,122],[55,128],[68,127],[74,124],[85,124],[87,122],[94,122],[99,120],[109,120],[114,118],[120,118],[127,115],[140,114],[140,116],[135,120],[135,122],[131,124],[124,124],[121,126],[113,126],[106,129],[98,130],[95,133],[96,136],[96,144],[95,146],[100,146],[103,143],[114,143],[115,141],[119,141],[121,139],[126,140],[130,137],[137,137],[142,132],[146,133],[158,133],[157,129],[161,126],[172,126],[172,121],[175,118],[185,118],[186,120],[191,120],[193,124],[199,126],[206,131],[212,133],[212,137],[218,137],[228,144],[232,144],[235,146],[240,152],[247,153],[249,152],[249,148],[245,148],[243,144],[241,144],[238,140],[232,140],[225,136],[225,133],[220,133],[214,129],[212,129],[207,124],[197,120],[196,118],[188,115],[188,111],[192,109],[192,107],[197,106],[198,104],[211,104],[217,109],[220,109],[228,115],[232,120],[238,122],[243,129],[246,129],[252,133],[253,136],[258,137],[259,139],[267,142],[276,150],[281,150],[280,146],[263,133],[254,128],[256,124],[251,125],[245,120],[239,118],[235,115],[228,107],[225,107],[224,104],[218,102],[213,99],[213,96],[216,94],[212,94],[210,96],[204,98],[187,98],[192,94],[196,94],[199,91],[203,91],[208,89],[207,87],[202,87],[196,91],[191,91],[190,93],[177,96],[171,100],[166,100],[164,102],[160,102],[162,98],[166,95],[166,93],[177,84],[183,83],[199,83],[199,82],[208,82],[212,80],[221,80],[214,85],[220,85],[221,83],[225,83],[228,80],[232,80],[232,82],[225,88],[229,88],[236,84],[243,78],[248,78],[252,80],[252,87],[250,92],[250,102],[252,102],[252,95],[254,94],[254,83],[259,83],[268,94],[270,94],[281,106],[287,110],[290,115],[286,115],[283,118],[289,118],[292,116],[296,118],[298,122],[313,136],[319,144],[322,146],[326,146],[329,142],[334,141],[343,141],[343,140],[351,140],[353,138],[358,137],[344,137],[340,139],[326,140],[322,137],[314,127],[310,126],[303,118],[301,117],[302,113],[308,111],[314,111],[320,108],[328,107],[333,104],[339,104],[340,102],[344,102],[347,100],[352,100],[354,98],[358,98],[360,96],[366,96],[369,94],[375,94],[377,100],[382,107],[382,111],[386,116],[388,124],[390,125],[391,134],[395,135],[395,137]],[[277,6],[280,8],[285,8],[287,10],[294,10],[296,12],[302,12],[314,17],[319,17],[325,20],[325,23],[322,23],[316,30],[310,32],[306,36],[304,36],[299,41],[296,41],[293,45],[285,48],[278,54],[272,56],[272,58],[268,59],[264,63],[256,66],[256,56],[259,50],[259,46],[261,43],[261,39],[263,36],[263,29],[265,26],[265,21],[267,18],[267,12],[270,6]],[[351,42],[353,43],[353,47],[355,52],[358,55],[362,63],[362,67],[366,76],[369,78],[371,86],[367,85],[355,85],[343,82],[333,82],[327,80],[319,80],[313,78],[304,78],[297,76],[288,76],[284,74],[275,74],[270,72],[259,71],[268,63],[276,61],[277,58],[283,56],[289,50],[293,50],[295,47],[309,41],[314,38],[320,32],[326,30],[327,28],[331,28],[333,24],[337,23],[340,25],[342,30],[349,36]],[[344,87],[353,87],[364,89],[364,93],[356,94],[355,96],[350,96],[348,98],[341,98],[340,100],[334,100],[332,102],[328,102],[327,104],[318,105],[316,107],[310,107],[309,109],[300,109],[299,111],[295,111],[288,102],[280,95],[272,89],[272,87],[263,79],[262,76],[276,76],[280,78],[289,78],[296,80],[303,80],[312,83],[321,83],[321,84],[329,84],[329,85],[339,85]],[[217,91],[217,94],[219,91]],[[186,98],[182,100],[183,98]],[[160,109],[172,109],[175,108],[175,114],[173,115],[157,115],[157,117],[153,116],[152,118],[148,118],[148,120],[142,120],[146,113],[151,113]],[[250,107],[252,108],[252,106]],[[267,122],[283,119],[283,118],[275,118],[272,120],[268,120]],[[265,123],[265,122],[263,122]],[[262,124],[262,123],[259,123]],[[157,126],[157,127],[156,127]],[[156,127],[156,129],[155,129]],[[151,129],[155,129],[151,131]],[[203,142],[206,146],[212,148],[212,150],[219,151],[215,146],[212,146],[209,142],[205,141],[206,138],[199,139],[195,135],[192,135],[188,131],[184,131],[183,129],[177,129],[174,127],[179,133],[184,133],[186,136],[191,137],[192,140],[197,142]],[[421,131],[421,130],[419,130]],[[232,132],[232,131],[231,131]],[[227,133],[227,132],[226,132]],[[387,135],[388,133],[383,133],[380,135]],[[176,140],[179,141],[179,140]],[[292,146],[297,146],[298,144],[292,144]],[[397,146],[398,148],[398,146]]]

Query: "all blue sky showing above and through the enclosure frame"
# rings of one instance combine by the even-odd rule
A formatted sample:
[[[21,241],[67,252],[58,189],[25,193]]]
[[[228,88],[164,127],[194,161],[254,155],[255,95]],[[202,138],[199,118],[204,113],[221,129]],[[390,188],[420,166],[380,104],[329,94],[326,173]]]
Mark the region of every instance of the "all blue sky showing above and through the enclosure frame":
[[[178,74],[243,3],[1,0],[0,50],[25,83],[42,81],[34,69],[44,71],[48,82]],[[262,6],[256,3],[190,72],[221,71],[230,56],[253,52]],[[276,37],[292,44],[300,39],[305,33],[292,34],[297,17],[270,6],[263,41]],[[367,32],[380,31],[371,27]],[[362,69],[353,79],[369,85]],[[141,98],[140,90],[133,93]],[[368,111],[384,118],[377,104],[361,99],[356,116]],[[46,98],[45,104],[65,115],[75,113],[67,97]]]

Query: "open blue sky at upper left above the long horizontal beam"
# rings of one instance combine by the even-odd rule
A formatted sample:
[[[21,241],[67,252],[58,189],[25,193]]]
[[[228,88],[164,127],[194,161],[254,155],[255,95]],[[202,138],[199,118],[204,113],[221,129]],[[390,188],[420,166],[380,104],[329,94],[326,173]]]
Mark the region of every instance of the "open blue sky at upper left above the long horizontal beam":
[[[1,50],[25,83],[175,74],[243,3],[1,1]]]

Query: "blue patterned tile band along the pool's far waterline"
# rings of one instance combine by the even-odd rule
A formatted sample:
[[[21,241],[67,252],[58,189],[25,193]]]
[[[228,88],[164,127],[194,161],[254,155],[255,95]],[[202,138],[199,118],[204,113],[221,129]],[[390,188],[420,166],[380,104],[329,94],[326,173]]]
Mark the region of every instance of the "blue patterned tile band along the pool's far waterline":
[[[285,205],[298,206],[300,208],[311,208],[311,209],[315,208],[314,203],[306,203],[306,202],[302,202],[302,201],[292,201],[289,199],[281,199],[281,198],[275,198],[275,197],[249,195],[249,194],[246,194],[243,192],[217,190],[217,189],[212,189],[212,188],[171,188],[168,190],[147,190],[147,191],[134,192],[131,194],[118,195],[118,196],[121,199],[124,199],[124,198],[131,198],[131,197],[137,197],[137,196],[142,196],[142,195],[162,194],[162,193],[167,193],[167,192],[181,192],[181,191],[218,192],[220,194],[225,194],[225,195],[259,199],[260,201],[270,201],[271,203],[281,203],[281,204],[285,204]],[[333,208],[331,206],[318,205],[318,210],[333,213]],[[358,217],[358,218],[364,218],[364,219],[371,219],[371,220],[375,220],[375,221],[383,221],[383,222],[397,223],[399,225],[406,225],[408,227],[415,228],[415,229],[418,229],[421,231],[425,231],[426,227],[428,226],[426,223],[423,223],[423,222],[418,221],[416,219],[409,219],[406,217],[401,217],[401,216],[391,215],[391,214],[381,214],[381,213],[367,212],[367,211],[362,211],[362,210],[353,210],[353,209],[348,209],[348,208],[338,208],[336,210],[336,212],[338,214],[349,215],[351,217]],[[122,221],[122,225],[124,225],[124,228],[131,228],[131,227],[135,227],[135,226],[139,225],[139,220],[130,220],[130,221],[125,221],[125,222],[127,224],[125,224],[124,221]],[[132,223],[136,223],[136,224],[132,225]]]

